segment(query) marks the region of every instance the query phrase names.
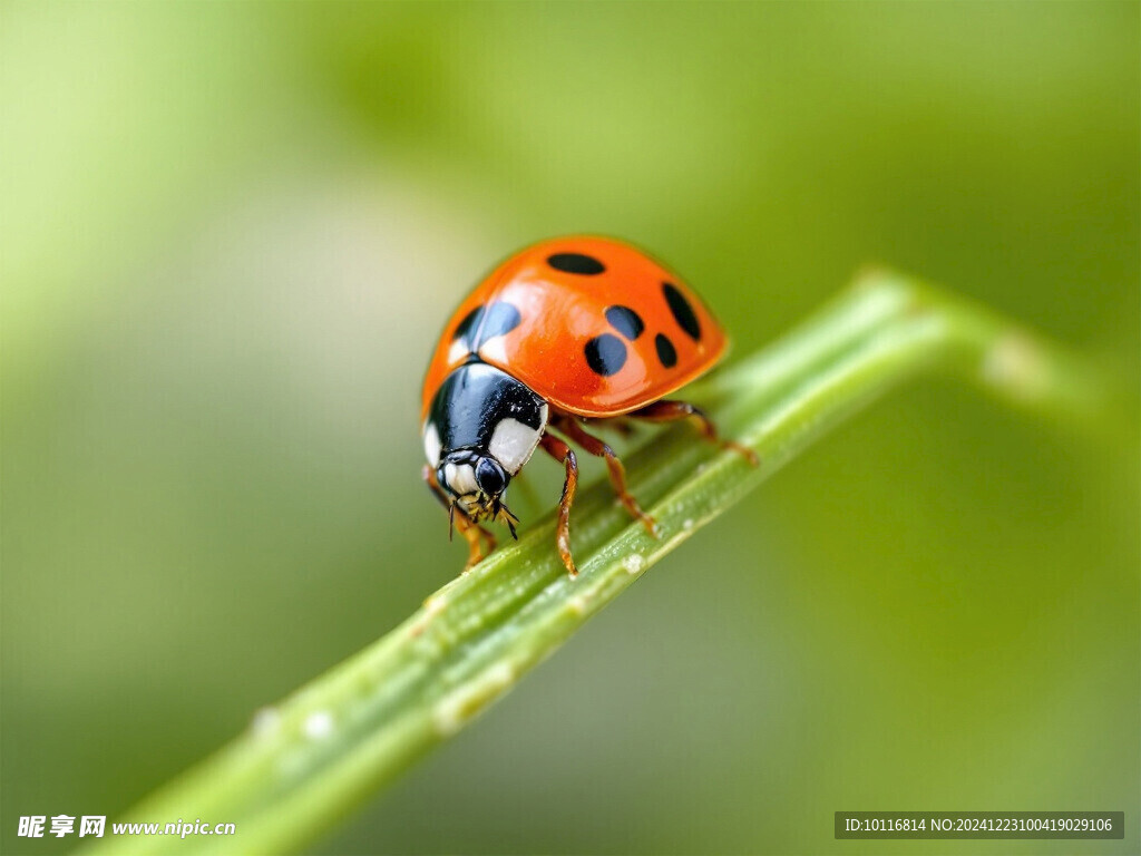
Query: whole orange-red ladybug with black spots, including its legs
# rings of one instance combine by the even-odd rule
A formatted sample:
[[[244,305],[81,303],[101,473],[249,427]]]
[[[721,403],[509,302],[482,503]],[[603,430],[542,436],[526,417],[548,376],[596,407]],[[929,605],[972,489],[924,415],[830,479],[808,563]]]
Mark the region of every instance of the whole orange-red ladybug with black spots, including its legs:
[[[727,344],[681,280],[620,241],[548,240],[493,270],[444,329],[421,409],[423,478],[468,541],[464,570],[495,549],[483,520],[505,524],[517,538],[507,488],[542,449],[566,470],[557,546],[569,574],[577,574],[569,516],[578,466],[567,441],[606,460],[622,504],[656,535],[653,518],[626,491],[614,450],[586,427],[626,430],[630,420],[693,419],[719,442],[701,410],[664,396],[711,369]],[[755,463],[752,450],[722,445]]]

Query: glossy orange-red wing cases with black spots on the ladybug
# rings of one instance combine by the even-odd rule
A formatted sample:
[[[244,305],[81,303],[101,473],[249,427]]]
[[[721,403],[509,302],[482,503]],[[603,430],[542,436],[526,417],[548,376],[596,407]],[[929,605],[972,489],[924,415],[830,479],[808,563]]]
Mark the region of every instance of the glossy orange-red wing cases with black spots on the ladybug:
[[[563,269],[556,266],[560,259]],[[543,241],[495,268],[447,322],[424,379],[421,419],[444,378],[470,358],[453,347],[456,330],[496,301],[517,308],[520,320],[483,341],[478,357],[581,417],[620,415],[669,395],[711,369],[728,342],[694,291],[642,251],[607,237]],[[633,325],[616,329],[608,309]],[[638,322],[641,330],[631,340]],[[612,374],[599,373],[588,358],[589,344],[602,336],[614,337],[625,353]]]

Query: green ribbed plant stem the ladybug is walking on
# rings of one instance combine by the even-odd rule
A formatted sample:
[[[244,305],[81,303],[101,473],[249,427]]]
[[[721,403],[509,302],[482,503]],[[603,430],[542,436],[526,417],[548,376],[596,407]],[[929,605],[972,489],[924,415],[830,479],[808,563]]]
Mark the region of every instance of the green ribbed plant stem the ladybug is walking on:
[[[1093,419],[1102,407],[1099,375],[1062,348],[934,288],[869,272],[691,396],[726,436],[760,454],[760,466],[701,443],[691,428],[665,431],[628,460],[631,490],[657,519],[659,539],[629,518],[609,485],[592,486],[572,516],[577,579],[556,555],[548,517],[387,636],[259,713],[249,730],[124,818],[230,822],[235,835],[108,837],[95,849],[267,854],[304,847],[463,728],[646,568],[816,437],[932,370],[1060,417]]]

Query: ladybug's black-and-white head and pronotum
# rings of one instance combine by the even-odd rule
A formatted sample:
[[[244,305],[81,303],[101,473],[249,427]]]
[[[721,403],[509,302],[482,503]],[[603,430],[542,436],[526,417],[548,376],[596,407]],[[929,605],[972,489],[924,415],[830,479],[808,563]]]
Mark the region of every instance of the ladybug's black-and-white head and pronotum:
[[[440,383],[424,421],[424,455],[445,499],[472,520],[515,534],[507,486],[547,427],[547,402],[507,372],[479,362]]]

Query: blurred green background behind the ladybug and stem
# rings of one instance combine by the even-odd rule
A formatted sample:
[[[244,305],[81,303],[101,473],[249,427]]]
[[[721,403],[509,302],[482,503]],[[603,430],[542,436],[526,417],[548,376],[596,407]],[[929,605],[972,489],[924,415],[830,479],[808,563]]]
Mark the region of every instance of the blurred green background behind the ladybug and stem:
[[[533,240],[650,248],[737,356],[888,263],[1135,390],[1139,33],[1133,2],[0,6],[2,849],[73,847],[17,816],[116,816],[458,571],[419,385]],[[853,808],[1124,809],[1125,841],[892,849],[1136,853],[1135,414],[892,395],[314,853],[888,849],[832,840]]]

